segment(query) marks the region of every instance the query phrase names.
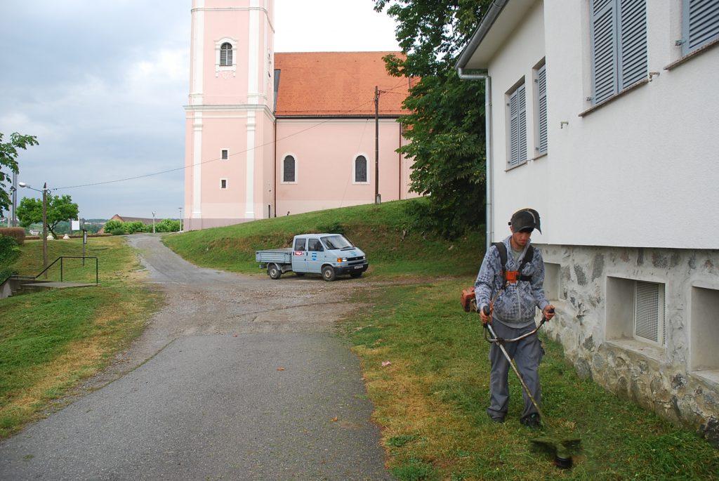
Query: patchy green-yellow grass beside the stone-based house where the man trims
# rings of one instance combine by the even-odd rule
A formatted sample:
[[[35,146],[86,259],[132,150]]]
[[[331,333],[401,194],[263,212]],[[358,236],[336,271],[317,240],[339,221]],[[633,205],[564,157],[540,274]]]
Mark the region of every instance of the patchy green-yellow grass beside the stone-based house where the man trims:
[[[459,292],[472,278],[362,290],[371,303],[343,324],[362,360],[375,421],[399,480],[710,480],[719,451],[629,400],[582,380],[562,347],[544,340],[541,365],[546,429],[553,439],[581,439],[574,469],[518,422],[521,386],[510,373],[510,413],[491,423],[488,344]],[[387,363],[391,364],[387,364]],[[383,365],[383,363],[385,365]]]

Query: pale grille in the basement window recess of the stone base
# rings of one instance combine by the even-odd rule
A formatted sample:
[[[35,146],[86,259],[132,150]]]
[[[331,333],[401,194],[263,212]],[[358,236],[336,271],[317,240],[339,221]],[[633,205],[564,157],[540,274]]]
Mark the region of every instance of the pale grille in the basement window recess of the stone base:
[[[636,281],[634,290],[634,337],[664,347],[664,285]]]

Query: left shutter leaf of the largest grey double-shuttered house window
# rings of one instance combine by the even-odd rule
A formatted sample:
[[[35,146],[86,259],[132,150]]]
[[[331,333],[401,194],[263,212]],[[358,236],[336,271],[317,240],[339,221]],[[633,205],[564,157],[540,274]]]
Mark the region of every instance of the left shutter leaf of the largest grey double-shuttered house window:
[[[593,0],[592,102],[598,104],[618,91],[617,9],[615,0]]]

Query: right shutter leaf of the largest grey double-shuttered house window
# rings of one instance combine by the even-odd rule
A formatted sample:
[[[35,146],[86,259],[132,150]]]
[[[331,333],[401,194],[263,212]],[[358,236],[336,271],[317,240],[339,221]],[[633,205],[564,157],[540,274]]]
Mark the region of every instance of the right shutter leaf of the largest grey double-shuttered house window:
[[[646,0],[620,1],[620,88],[646,78]]]

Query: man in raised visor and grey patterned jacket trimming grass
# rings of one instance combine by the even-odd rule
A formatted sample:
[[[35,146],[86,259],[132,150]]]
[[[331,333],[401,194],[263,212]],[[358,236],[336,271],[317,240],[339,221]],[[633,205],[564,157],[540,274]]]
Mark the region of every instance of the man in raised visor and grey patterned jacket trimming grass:
[[[554,306],[544,297],[544,260],[541,252],[530,244],[532,231],[541,233],[539,213],[534,209],[521,209],[509,221],[512,234],[492,245],[482,260],[475,281],[475,299],[482,324],[492,322],[499,338],[513,339],[535,328],[535,308],[539,307],[547,320],[554,317]],[[503,244],[503,245],[501,245]],[[485,313],[485,307],[490,312]],[[537,403],[541,402],[539,362],[542,348],[536,334],[518,342],[505,344],[515,359],[517,369]],[[487,414],[495,423],[504,422],[509,406],[509,361],[500,347],[490,348],[490,406]],[[524,395],[524,411],[520,422],[530,428],[539,428],[539,413],[531,399]]]

